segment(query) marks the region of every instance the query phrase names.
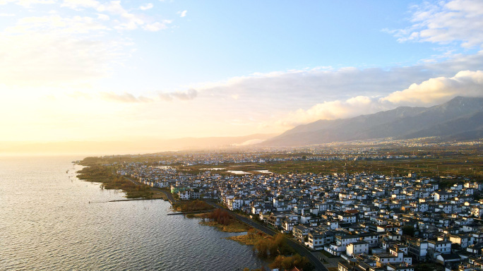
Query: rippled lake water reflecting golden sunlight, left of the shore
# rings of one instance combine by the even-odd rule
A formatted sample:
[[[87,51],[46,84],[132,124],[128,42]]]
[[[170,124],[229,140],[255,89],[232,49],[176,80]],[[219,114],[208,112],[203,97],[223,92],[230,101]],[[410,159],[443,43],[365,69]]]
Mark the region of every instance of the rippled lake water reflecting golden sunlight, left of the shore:
[[[0,157],[0,270],[242,270],[263,264],[229,234],[167,215],[164,200],[76,179],[82,157]],[[66,172],[68,171],[68,172]],[[89,203],[90,202],[90,203]]]

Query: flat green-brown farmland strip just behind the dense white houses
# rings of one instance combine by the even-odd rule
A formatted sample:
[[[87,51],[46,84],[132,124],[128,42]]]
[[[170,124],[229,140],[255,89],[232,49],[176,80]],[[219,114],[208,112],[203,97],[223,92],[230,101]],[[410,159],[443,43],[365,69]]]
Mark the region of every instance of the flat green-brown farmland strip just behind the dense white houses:
[[[407,150],[388,150],[391,155],[407,155]],[[387,152],[386,152],[387,153]],[[427,150],[415,152],[417,158],[411,159],[346,159],[331,161],[290,160],[263,164],[219,164],[226,170],[248,171],[268,170],[278,174],[292,173],[376,173],[407,175],[410,172],[419,176],[467,176],[483,180],[483,156],[477,150]],[[310,156],[307,156],[310,157]],[[199,172],[201,167],[179,167],[181,171]],[[217,171],[218,172],[218,171]]]

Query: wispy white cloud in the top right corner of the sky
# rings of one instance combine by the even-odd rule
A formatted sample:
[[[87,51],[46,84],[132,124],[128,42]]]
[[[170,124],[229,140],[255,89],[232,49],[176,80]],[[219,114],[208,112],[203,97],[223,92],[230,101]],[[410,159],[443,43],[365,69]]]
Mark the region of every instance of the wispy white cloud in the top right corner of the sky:
[[[483,2],[479,0],[439,1],[414,6],[409,28],[389,30],[398,41],[458,42],[461,47],[483,44]]]

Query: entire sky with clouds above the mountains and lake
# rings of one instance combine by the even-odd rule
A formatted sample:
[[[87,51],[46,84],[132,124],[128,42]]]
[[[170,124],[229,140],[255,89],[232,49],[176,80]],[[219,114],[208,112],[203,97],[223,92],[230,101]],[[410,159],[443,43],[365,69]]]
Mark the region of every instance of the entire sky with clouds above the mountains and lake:
[[[0,142],[282,133],[483,96],[483,1],[0,0]]]

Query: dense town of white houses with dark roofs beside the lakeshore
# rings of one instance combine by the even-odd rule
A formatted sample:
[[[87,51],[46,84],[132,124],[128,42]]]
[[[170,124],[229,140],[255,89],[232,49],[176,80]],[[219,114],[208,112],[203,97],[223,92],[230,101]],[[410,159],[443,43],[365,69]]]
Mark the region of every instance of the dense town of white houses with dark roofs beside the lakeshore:
[[[169,188],[180,199],[219,200],[314,251],[341,258],[339,271],[414,271],[418,263],[482,270],[483,183],[443,187],[408,174],[189,174],[124,164],[118,174]]]

